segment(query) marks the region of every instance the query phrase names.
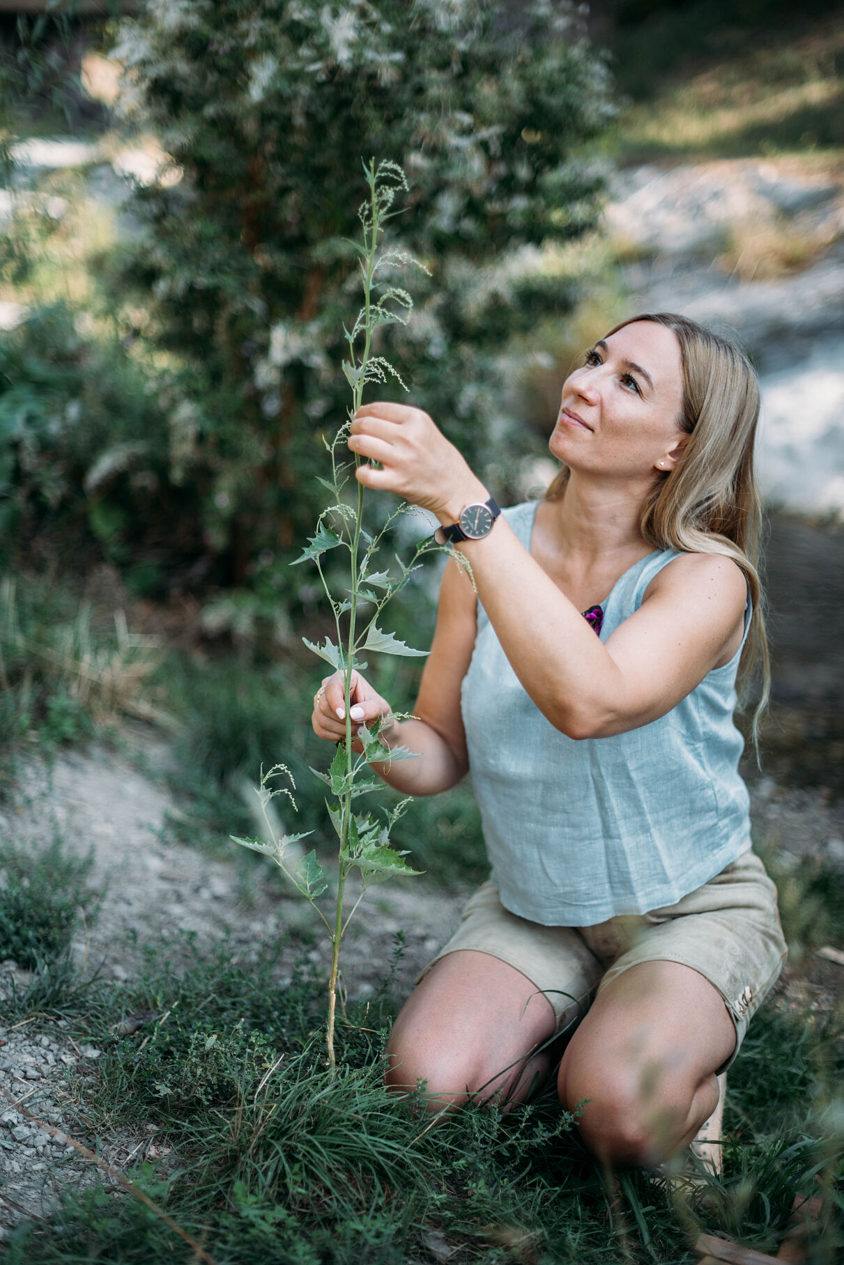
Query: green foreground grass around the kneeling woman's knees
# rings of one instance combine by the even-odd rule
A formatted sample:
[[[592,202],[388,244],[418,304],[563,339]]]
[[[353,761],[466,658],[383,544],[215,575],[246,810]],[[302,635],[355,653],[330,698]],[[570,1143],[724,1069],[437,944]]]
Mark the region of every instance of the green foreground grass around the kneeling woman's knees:
[[[809,1260],[840,1259],[840,1015],[802,1013],[781,994],[757,1016],[730,1071],[721,1178],[669,1189],[643,1170],[617,1185],[553,1090],[511,1113],[469,1108],[434,1127],[413,1101],[387,1094],[383,1047],[400,1004],[388,973],[340,1022],[332,1078],[324,980],[302,949],[243,947],[223,934],[201,951],[176,935],[148,945],[125,984],[67,977],[52,1002],[42,990],[29,1012],[15,1011],[38,1009],[40,1028],[62,1015],[77,1044],[101,1049],[85,1069],[92,1080],[70,1078],[76,1132],[142,1144],[135,1180],[218,1265],[444,1254],[458,1265],[691,1265],[701,1230],[776,1251],[795,1194],[819,1189],[830,1217]],[[139,1013],[137,1031],[120,1036]],[[149,1140],[158,1157],[144,1161]],[[95,1188],[16,1230],[6,1259],[128,1265],[187,1262],[191,1251],[130,1197]]]

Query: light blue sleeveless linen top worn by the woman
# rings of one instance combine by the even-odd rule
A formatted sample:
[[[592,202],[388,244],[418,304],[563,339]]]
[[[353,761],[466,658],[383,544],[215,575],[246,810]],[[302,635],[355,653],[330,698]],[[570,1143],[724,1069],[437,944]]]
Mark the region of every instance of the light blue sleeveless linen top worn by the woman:
[[[530,550],[537,503],[504,516]],[[614,584],[602,641],[642,605],[676,549]],[[533,703],[478,603],[462,684],[472,786],[501,903],[545,926],[591,926],[673,904],[749,848],[749,797],[733,722],[742,650],[664,716],[574,741]],[[745,612],[744,639],[749,626]],[[528,619],[528,615],[525,615]]]

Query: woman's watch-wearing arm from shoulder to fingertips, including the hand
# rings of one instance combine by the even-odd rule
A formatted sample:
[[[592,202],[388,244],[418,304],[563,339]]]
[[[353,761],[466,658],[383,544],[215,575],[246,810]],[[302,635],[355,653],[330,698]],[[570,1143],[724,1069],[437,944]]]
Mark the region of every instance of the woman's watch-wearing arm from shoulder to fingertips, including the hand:
[[[442,524],[487,491],[428,414],[368,405],[352,424],[356,478],[431,509]],[[640,610],[600,641],[576,606],[499,519],[458,548],[519,681],[569,737],[607,737],[663,716],[740,640],[745,582],[728,558],[685,554],[657,576]]]

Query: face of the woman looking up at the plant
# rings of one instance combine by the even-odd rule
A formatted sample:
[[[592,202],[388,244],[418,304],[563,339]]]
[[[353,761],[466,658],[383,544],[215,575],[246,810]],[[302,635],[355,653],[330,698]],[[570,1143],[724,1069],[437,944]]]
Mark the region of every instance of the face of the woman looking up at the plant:
[[[573,471],[653,477],[673,467],[686,440],[681,406],[677,335],[634,321],[596,343],[566,378],[548,447]]]

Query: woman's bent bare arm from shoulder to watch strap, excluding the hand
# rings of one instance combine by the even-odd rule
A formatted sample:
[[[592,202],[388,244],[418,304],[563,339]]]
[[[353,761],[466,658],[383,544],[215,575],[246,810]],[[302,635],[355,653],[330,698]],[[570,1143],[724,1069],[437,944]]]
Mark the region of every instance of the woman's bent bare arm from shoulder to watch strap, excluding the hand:
[[[740,641],[747,586],[729,558],[674,559],[601,643],[507,522],[459,548],[519,681],[569,737],[609,737],[664,716]]]

